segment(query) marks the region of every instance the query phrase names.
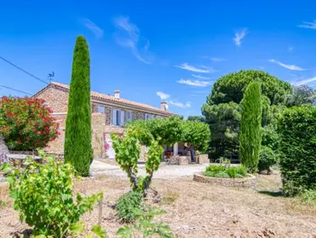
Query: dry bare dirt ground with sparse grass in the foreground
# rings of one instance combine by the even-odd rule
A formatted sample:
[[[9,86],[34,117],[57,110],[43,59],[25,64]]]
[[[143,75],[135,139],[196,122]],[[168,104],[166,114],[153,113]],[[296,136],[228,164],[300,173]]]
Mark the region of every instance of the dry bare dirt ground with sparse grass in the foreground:
[[[127,180],[102,176],[87,178],[76,185],[83,194],[104,191],[102,226],[108,237],[123,224],[116,219],[113,205],[129,190]],[[256,189],[209,186],[192,181],[192,177],[153,181],[153,188],[162,200],[156,204],[167,214],[157,217],[171,226],[174,237],[316,237],[316,206],[302,205],[297,199],[280,195],[278,174],[258,176]],[[0,189],[1,201],[7,201],[5,189]],[[152,195],[146,203],[152,204]],[[83,220],[88,226],[98,224],[98,207]],[[0,205],[0,237],[20,237],[28,229],[18,220],[18,213],[8,202]],[[23,235],[21,235],[23,237]]]

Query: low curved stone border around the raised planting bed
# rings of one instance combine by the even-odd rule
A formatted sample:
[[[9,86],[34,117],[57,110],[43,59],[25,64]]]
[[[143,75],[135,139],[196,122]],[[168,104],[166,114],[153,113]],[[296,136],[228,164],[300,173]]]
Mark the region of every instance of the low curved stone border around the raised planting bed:
[[[225,178],[203,176],[202,174],[194,174],[193,180],[200,183],[207,183],[216,186],[230,186],[230,187],[255,187],[256,176],[247,175],[243,178]]]

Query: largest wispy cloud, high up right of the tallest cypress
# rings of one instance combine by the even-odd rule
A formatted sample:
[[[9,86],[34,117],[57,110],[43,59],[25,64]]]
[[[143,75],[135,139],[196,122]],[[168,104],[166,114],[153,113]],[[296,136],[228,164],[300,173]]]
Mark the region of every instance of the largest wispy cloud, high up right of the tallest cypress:
[[[131,23],[128,16],[119,16],[114,19],[114,24],[118,29],[116,32],[116,43],[131,49],[135,57],[144,63],[153,62],[153,53],[149,52],[150,42],[144,38],[138,27]]]

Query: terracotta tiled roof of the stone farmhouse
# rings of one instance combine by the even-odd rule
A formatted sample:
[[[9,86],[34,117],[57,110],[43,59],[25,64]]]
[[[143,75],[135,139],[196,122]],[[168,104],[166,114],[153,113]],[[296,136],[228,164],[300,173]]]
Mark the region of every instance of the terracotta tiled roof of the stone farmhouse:
[[[60,88],[63,88],[63,89],[66,89],[66,90],[70,90],[70,86],[67,85],[67,84],[63,84],[63,83],[56,82],[56,81],[51,81],[51,84],[59,86]],[[146,105],[146,104],[139,103],[139,102],[135,102],[135,101],[132,101],[132,100],[116,99],[113,96],[110,96],[110,95],[107,95],[107,94],[103,94],[103,93],[99,93],[99,92],[96,92],[96,91],[91,91],[91,98],[92,99],[97,99],[97,100],[98,99],[99,100],[106,100],[108,102],[114,102],[114,103],[117,103],[117,104],[124,104],[126,106],[133,106],[133,107],[137,107],[137,108],[140,108],[140,109],[149,109],[149,110],[153,110],[153,111],[156,111],[158,113],[163,113],[163,114],[166,114],[166,115],[176,115],[176,114],[174,114],[174,113],[172,113],[170,111],[165,111],[163,109],[157,109],[157,108],[154,108],[153,106]]]

